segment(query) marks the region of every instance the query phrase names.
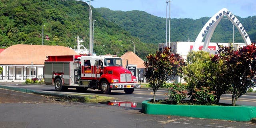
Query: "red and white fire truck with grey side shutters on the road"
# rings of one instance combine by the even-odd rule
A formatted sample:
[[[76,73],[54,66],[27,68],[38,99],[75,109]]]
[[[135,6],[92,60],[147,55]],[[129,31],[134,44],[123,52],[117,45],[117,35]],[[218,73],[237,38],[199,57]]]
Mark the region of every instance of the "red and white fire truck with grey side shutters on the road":
[[[57,91],[75,87],[80,91],[98,89],[104,94],[111,90],[132,94],[134,88],[140,87],[116,56],[48,56],[44,74],[45,83],[54,85]]]

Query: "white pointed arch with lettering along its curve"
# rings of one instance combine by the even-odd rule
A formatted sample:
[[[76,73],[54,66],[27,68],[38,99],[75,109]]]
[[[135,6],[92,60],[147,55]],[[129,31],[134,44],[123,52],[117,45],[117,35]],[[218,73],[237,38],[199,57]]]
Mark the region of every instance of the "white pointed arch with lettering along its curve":
[[[222,8],[219,12],[214,14],[214,16],[212,16],[212,18],[210,18],[210,20],[208,20],[208,22],[206,22],[206,24],[204,25],[204,27],[198,34],[192,50],[194,50],[194,51],[199,50],[199,46],[200,46],[204,36],[206,36],[206,37],[204,40],[204,47],[202,50],[207,50],[209,42],[212,38],[212,34],[213,34],[216,26],[219,24],[220,20],[223,18],[223,16],[226,16],[234,24],[234,26],[236,26],[236,28],[240,32],[242,38],[244,39],[244,42],[246,45],[249,45],[252,43],[246,30],[244,29],[244,27],[242,26],[240,21],[236,18],[236,16],[234,16],[234,14],[232,14],[227,8]]]

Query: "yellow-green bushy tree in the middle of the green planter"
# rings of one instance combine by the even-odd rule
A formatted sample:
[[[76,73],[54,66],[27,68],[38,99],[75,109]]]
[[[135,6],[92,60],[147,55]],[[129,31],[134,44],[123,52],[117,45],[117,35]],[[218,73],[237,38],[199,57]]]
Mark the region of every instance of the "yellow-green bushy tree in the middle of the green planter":
[[[212,62],[209,53],[202,50],[189,52],[187,63],[188,65],[184,67],[183,78],[188,82],[188,94],[191,100],[200,104],[211,104],[212,95],[207,94],[211,92],[214,94],[214,102],[218,103],[220,96],[227,93],[230,88],[229,84],[225,83],[228,75],[223,72],[225,66],[222,63]]]

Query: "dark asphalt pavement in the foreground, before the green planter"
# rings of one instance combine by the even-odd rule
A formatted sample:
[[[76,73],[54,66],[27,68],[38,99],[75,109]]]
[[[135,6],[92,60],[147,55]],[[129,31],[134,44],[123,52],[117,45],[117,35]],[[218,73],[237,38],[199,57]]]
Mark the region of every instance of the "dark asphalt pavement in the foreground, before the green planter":
[[[8,98],[8,100],[3,100]],[[59,102],[0,89],[0,128],[255,128],[235,122],[146,115],[139,109],[98,103]]]

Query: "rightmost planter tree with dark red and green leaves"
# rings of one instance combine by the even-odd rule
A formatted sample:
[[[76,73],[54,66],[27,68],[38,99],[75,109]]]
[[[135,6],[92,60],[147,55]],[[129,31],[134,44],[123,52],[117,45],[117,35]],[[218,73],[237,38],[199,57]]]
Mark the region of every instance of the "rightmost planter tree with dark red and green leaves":
[[[213,62],[222,62],[226,68],[223,71],[226,76],[226,84],[231,86],[232,105],[240,96],[246,93],[249,88],[255,87],[254,80],[256,77],[256,46],[255,44],[247,45],[238,50],[233,50],[230,46],[224,47],[218,45],[217,55],[212,58]]]

